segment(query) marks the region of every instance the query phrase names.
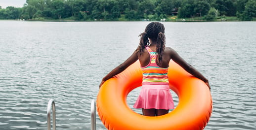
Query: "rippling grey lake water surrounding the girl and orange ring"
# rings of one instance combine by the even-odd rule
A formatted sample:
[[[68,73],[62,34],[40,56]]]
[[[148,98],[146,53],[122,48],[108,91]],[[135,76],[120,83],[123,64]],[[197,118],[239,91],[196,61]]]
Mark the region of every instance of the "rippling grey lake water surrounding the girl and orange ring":
[[[57,130],[90,130],[101,78],[131,55],[148,23],[0,21],[0,129],[46,130],[54,99]],[[210,81],[205,130],[256,130],[256,22],[163,24],[166,45]]]

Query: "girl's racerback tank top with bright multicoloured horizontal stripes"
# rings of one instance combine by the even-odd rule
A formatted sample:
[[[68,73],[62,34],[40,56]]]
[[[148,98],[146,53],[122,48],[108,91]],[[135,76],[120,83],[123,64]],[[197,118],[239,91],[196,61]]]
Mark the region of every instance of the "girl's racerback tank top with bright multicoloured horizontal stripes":
[[[153,52],[148,46],[146,47],[150,55],[150,63],[141,67],[143,73],[142,85],[169,85],[168,67],[163,68],[156,64],[157,53]]]

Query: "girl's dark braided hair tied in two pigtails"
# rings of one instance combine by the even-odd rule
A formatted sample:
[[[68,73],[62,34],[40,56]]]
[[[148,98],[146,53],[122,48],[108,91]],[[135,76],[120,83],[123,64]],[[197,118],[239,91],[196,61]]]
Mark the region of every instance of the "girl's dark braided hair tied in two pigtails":
[[[165,37],[165,27],[163,24],[159,22],[152,22],[147,25],[145,32],[142,32],[139,34],[140,42],[138,46],[139,54],[141,55],[143,49],[149,44],[149,39],[157,42],[156,47],[156,53],[158,62],[161,63],[162,61],[162,55],[165,50],[165,43],[166,43],[166,37]]]

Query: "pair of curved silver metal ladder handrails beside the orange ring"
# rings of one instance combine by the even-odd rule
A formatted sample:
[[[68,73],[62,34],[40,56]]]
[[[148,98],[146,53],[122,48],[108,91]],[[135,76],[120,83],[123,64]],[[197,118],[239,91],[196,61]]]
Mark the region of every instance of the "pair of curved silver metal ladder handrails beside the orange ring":
[[[51,130],[51,114],[50,110],[52,107],[52,129],[56,130],[56,114],[55,114],[55,102],[53,99],[50,99],[47,106],[47,130]],[[90,105],[90,124],[91,130],[96,130],[96,107],[95,107],[95,100],[91,100]]]

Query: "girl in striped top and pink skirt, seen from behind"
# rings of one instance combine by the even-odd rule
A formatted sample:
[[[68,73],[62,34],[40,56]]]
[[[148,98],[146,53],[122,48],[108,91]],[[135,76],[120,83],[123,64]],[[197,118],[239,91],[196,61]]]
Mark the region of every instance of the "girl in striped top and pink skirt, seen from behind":
[[[139,60],[143,73],[142,89],[133,107],[142,108],[142,113],[145,116],[164,115],[169,112],[169,109],[174,108],[167,76],[170,60],[203,80],[210,89],[208,80],[199,71],[186,63],[171,47],[165,46],[166,37],[163,24],[152,22],[139,36],[138,48],[124,63],[109,72],[102,79],[100,86]]]

